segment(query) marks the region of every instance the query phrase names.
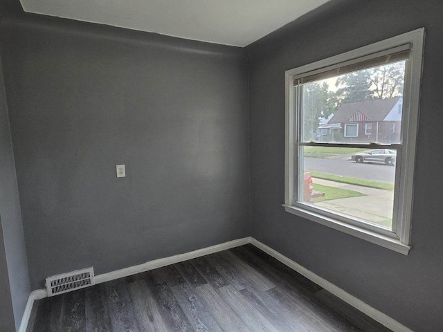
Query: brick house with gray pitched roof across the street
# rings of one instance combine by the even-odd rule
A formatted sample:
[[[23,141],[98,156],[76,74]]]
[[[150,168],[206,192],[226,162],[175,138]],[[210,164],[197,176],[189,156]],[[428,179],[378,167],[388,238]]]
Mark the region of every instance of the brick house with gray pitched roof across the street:
[[[397,142],[402,106],[401,97],[342,104],[319,129],[328,127],[332,138],[344,142]]]

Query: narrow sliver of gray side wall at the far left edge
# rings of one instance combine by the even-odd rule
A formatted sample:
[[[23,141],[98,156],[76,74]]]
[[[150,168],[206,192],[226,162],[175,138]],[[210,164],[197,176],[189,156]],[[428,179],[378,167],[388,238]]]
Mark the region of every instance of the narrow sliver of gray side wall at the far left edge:
[[[3,45],[1,45],[3,46]],[[1,59],[0,59],[1,63]],[[0,331],[1,326],[9,326],[4,331],[10,329],[14,322],[19,328],[21,317],[30,293],[28,263],[26,259],[26,249],[24,243],[23,226],[21,224],[19,193],[17,190],[17,179],[15,176],[14,156],[12,154],[12,144],[8,121],[8,107],[6,103],[5,88],[3,85],[3,73],[0,65]],[[3,251],[4,250],[4,251]],[[5,261],[3,261],[3,257]],[[6,265],[5,265],[6,264]],[[7,268],[6,268],[7,266]],[[3,270],[3,268],[5,268]],[[5,279],[5,278],[9,279]],[[6,290],[6,282],[10,288],[9,294],[3,295]],[[12,303],[11,303],[12,300]],[[9,311],[6,306],[14,309],[12,322],[8,320]],[[3,309],[5,311],[3,312]],[[11,325],[12,324],[12,325]]]

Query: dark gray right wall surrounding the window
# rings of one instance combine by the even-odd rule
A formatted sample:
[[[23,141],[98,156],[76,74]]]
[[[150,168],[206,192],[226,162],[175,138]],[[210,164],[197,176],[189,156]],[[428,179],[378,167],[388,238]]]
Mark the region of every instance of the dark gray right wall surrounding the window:
[[[413,331],[443,331],[443,2],[341,1],[246,48],[252,235]],[[426,28],[408,256],[284,212],[284,71]]]

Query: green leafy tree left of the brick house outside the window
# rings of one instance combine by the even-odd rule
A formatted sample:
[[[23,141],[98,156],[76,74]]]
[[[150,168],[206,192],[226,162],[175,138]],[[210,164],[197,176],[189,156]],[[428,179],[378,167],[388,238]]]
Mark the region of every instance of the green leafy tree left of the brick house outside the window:
[[[320,118],[327,118],[336,109],[336,98],[326,82],[303,86],[303,136],[311,140],[317,132]]]

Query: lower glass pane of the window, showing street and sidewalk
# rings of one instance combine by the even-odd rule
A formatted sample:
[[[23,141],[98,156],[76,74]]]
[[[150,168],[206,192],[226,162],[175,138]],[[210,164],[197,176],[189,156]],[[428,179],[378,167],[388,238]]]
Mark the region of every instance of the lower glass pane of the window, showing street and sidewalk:
[[[300,156],[298,202],[392,229],[397,151],[300,147]]]

